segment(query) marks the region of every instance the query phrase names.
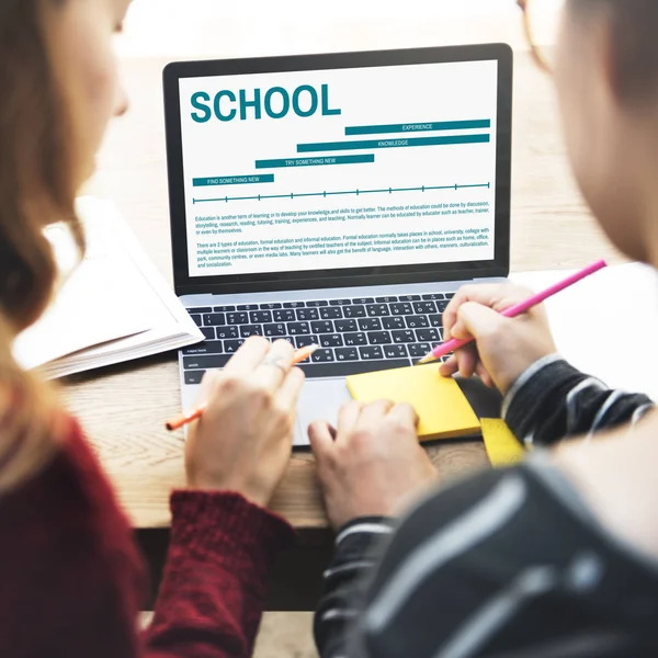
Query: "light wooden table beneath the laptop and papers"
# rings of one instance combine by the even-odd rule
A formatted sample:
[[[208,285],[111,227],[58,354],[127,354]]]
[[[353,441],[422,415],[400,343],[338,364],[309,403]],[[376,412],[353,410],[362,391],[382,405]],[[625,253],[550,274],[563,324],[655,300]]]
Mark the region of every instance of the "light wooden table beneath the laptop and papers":
[[[91,191],[118,204],[150,258],[171,281],[160,89],[166,64],[157,58],[124,63],[132,107],[111,127]],[[512,270],[576,268],[602,257],[621,260],[571,180],[552,82],[525,54],[517,57],[514,88]],[[169,492],[184,486],[182,434],[167,433],[162,423],[180,407],[175,354],[71,377],[64,393],[98,450],[139,538],[158,563],[166,530],[154,529],[167,529]],[[487,465],[477,442],[436,445],[429,452],[446,476]],[[288,594],[275,595],[271,605],[304,609],[313,604],[317,575],[330,553],[330,533],[309,453],[293,455],[272,509],[299,530],[299,541],[297,553],[284,558],[275,577]],[[309,556],[315,564],[310,565]],[[300,567],[305,560],[310,565],[308,571]]]

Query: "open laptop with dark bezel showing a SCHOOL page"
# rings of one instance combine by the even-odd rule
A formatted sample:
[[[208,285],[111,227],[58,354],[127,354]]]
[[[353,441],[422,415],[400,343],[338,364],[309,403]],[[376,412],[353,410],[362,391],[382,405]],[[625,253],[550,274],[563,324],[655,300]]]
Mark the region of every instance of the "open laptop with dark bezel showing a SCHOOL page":
[[[302,364],[295,444],[344,378],[409,366],[465,283],[509,274],[503,44],[184,61],[163,72],[175,293],[206,340],[183,408],[252,334]]]

